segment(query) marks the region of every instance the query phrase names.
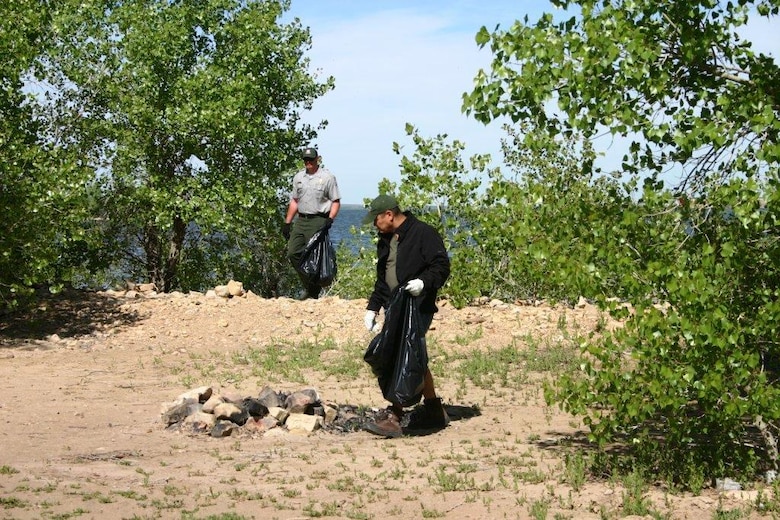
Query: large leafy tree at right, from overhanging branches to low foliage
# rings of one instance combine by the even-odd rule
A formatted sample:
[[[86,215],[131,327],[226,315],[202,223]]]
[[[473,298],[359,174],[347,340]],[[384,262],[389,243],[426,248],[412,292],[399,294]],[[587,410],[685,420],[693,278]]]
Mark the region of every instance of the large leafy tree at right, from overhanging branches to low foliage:
[[[626,139],[617,173],[645,182],[610,227],[580,227],[591,259],[570,266],[611,270],[602,301],[630,299],[630,315],[612,305],[626,326],[587,343],[583,372],[548,399],[669,480],[751,476],[761,452],[777,467],[780,69],[737,30],[780,2],[552,4],[576,14],[478,33],[494,60],[464,110],[523,122],[529,150]],[[669,172],[676,195],[658,181]],[[755,430],[761,450],[746,441]]]

